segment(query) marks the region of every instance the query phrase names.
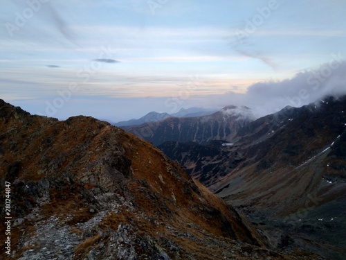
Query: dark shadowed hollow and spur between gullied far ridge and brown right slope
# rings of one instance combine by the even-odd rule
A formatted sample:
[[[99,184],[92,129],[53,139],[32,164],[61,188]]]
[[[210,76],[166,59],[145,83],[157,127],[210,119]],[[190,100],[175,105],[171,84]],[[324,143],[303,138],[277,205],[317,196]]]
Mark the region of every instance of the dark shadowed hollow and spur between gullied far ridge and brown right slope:
[[[229,142],[210,141],[202,145],[193,142],[167,141],[158,148],[179,162],[189,175],[203,182],[206,187],[210,187],[218,184],[221,177],[241,165],[240,163],[246,159],[247,148],[270,139],[273,132],[283,128],[298,115],[298,108],[286,107],[280,112],[264,116],[239,128],[235,137]]]

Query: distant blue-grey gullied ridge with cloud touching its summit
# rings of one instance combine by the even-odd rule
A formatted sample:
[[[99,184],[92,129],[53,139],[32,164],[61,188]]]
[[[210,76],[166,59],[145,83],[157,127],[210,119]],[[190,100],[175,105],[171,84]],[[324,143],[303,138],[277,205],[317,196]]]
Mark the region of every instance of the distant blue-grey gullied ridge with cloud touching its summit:
[[[230,105],[208,116],[170,117],[162,121],[127,127],[126,130],[152,142],[155,146],[165,141],[207,144],[211,140],[232,139],[237,130],[250,121],[253,121],[253,114],[248,107]]]

